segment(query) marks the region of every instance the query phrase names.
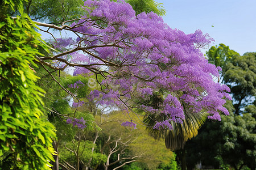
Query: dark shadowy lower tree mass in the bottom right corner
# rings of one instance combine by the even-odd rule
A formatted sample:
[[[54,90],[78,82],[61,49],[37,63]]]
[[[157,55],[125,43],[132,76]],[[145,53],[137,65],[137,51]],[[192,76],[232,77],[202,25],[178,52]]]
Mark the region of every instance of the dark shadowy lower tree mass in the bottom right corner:
[[[249,108],[255,109],[255,105]],[[242,116],[230,113],[229,117],[222,116],[221,122],[206,122],[199,135],[185,145],[188,167],[192,169],[201,161],[214,168],[255,169],[256,121],[253,115],[255,113],[246,109]]]

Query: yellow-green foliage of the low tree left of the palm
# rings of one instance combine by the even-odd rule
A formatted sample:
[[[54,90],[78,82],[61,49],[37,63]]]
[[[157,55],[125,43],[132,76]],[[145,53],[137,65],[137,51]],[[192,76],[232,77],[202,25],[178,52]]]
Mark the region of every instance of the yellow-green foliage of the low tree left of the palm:
[[[128,115],[126,115],[128,116]],[[130,115],[135,122],[139,122],[139,118],[135,115]],[[141,119],[143,117],[140,117]],[[132,130],[131,127],[120,126],[121,122],[127,121],[120,111],[114,111],[102,117],[97,116],[96,121],[102,123],[102,133],[100,133],[100,140],[97,144],[104,153],[109,153],[109,148],[113,148],[115,142],[118,141],[117,152],[110,157],[110,164],[117,161],[118,154],[120,158],[126,158],[123,161],[112,165],[110,168],[117,167],[125,161],[133,160],[135,157],[136,163],[125,165],[125,169],[157,169],[160,165],[167,167],[170,163],[175,162],[175,155],[168,150],[163,140],[155,140],[148,136],[146,127],[138,126],[137,129]],[[110,138],[109,138],[110,137]],[[108,141],[110,139],[110,141]],[[122,152],[122,150],[124,152]],[[127,159],[130,158],[130,159]],[[174,163],[175,164],[175,163]]]

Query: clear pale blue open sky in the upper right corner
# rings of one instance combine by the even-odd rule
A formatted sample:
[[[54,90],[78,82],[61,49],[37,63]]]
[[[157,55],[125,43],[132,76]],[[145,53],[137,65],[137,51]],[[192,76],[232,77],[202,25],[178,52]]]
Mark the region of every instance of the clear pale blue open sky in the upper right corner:
[[[215,40],[212,45],[223,43],[240,55],[256,52],[256,0],[155,1],[163,3],[163,20],[171,28],[185,33],[201,29]]]

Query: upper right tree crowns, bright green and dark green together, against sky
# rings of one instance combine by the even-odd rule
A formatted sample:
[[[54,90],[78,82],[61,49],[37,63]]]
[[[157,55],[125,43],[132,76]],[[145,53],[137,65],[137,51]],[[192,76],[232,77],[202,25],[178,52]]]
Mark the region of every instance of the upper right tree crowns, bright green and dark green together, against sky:
[[[222,67],[221,80],[228,84],[233,95],[233,104],[236,108],[235,114],[241,113],[241,108],[253,103],[256,95],[256,59],[255,53],[245,53],[240,56],[229,46],[220,44],[212,46],[207,52],[210,62]]]

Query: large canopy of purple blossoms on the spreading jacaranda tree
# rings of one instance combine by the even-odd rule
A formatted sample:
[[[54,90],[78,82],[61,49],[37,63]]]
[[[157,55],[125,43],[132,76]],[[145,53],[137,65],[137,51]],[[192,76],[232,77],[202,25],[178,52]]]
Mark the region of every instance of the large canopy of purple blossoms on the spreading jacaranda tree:
[[[229,114],[223,105],[225,99],[231,99],[230,90],[214,82],[221,68],[210,64],[200,51],[213,41],[208,34],[197,30],[186,35],[170,28],[153,12],[135,16],[124,1],[88,0],[83,8],[84,19],[70,25],[82,35],[76,43],[84,49],[84,53],[72,54],[72,62],[82,64],[74,75],[90,71],[108,74],[101,84],[106,88],[90,92],[91,100],[127,109],[128,105],[138,105],[131,99],[147,101],[162,90],[163,102],[157,108],[138,106],[145,113],[168,117],[156,122],[155,129],[171,129],[171,121],[181,123],[185,110],[191,114],[208,112],[209,118],[216,120],[220,120],[219,112]],[[65,46],[71,41],[57,40],[56,44]],[[77,84],[69,87],[78,88]],[[133,122],[122,125],[135,127]]]

